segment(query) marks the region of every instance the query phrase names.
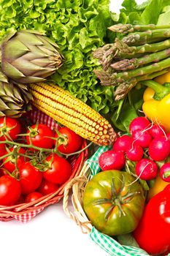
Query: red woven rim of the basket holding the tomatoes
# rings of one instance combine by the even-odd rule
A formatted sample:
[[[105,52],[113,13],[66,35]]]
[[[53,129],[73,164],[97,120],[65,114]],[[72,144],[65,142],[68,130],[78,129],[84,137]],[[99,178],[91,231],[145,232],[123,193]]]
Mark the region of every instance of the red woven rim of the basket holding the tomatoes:
[[[85,148],[86,146],[86,140],[83,140],[82,148]],[[66,187],[66,184],[72,181],[72,178],[79,176],[80,171],[82,170],[82,165],[87,157],[88,148],[85,148],[85,150],[82,151],[75,160],[72,176],[70,176],[69,180],[66,181],[66,183],[63,184],[61,187],[59,187],[57,191],[40,197],[39,199],[34,200],[34,202],[20,203],[15,206],[0,206],[0,221],[11,220],[18,215],[20,216],[23,214],[29,214],[32,211],[40,210],[42,208],[50,206],[51,204],[58,203],[58,201],[63,198],[64,188]]]

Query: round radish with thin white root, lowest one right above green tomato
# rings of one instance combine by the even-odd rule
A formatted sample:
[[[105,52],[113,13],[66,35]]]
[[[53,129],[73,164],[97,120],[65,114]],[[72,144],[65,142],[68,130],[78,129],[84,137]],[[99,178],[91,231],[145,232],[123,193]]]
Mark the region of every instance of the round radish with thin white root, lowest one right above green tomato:
[[[135,171],[136,176],[139,176],[144,181],[149,181],[157,176],[158,165],[150,159],[142,158],[136,163]]]

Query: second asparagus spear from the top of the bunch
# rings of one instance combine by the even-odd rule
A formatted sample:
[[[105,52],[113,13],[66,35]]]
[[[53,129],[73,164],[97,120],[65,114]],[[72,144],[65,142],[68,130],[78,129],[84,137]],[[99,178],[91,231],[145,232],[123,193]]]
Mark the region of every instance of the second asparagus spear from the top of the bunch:
[[[170,29],[155,29],[143,32],[135,32],[123,37],[122,41],[127,45],[144,45],[146,43],[160,42],[170,37]]]

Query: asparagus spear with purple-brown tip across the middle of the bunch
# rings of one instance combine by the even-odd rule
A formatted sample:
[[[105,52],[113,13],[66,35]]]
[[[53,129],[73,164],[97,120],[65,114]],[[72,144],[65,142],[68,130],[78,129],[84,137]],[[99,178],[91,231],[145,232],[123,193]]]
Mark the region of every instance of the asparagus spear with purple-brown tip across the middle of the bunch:
[[[110,64],[110,67],[123,71],[128,69],[136,69],[137,67],[144,66],[151,62],[158,62],[161,61],[161,59],[166,59],[168,56],[170,56],[170,48],[161,50],[159,53],[152,53],[150,55],[143,56],[139,59],[123,59],[121,61]]]

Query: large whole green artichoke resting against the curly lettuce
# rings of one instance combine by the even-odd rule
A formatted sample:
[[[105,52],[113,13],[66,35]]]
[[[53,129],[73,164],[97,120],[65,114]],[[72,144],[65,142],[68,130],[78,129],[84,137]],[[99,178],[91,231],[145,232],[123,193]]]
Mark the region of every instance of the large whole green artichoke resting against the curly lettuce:
[[[18,83],[37,83],[61,67],[58,45],[35,30],[7,34],[1,42],[1,69]]]

